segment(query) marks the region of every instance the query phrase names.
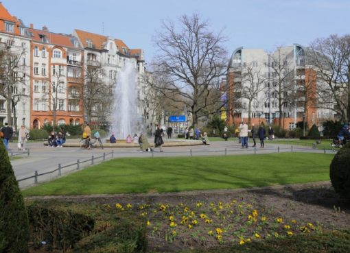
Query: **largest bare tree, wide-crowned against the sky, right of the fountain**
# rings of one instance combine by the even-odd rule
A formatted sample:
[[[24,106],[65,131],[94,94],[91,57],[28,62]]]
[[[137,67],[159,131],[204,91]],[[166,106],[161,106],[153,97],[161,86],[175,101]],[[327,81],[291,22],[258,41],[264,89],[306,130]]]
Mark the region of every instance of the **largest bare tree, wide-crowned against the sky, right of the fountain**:
[[[225,38],[211,32],[208,21],[202,21],[199,14],[183,15],[176,25],[163,22],[155,38],[158,55],[152,67],[154,75],[165,76],[166,83],[154,88],[185,103],[196,125],[202,110],[220,99],[213,100],[211,93],[220,90],[220,77],[226,72]]]

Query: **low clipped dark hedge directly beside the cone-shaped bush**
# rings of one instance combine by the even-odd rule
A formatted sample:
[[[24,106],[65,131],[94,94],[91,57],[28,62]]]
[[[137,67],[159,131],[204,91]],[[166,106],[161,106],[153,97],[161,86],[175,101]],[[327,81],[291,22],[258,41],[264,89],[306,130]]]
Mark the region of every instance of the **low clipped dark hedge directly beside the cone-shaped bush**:
[[[67,208],[30,204],[31,241],[39,247],[45,241],[49,249],[65,250],[73,247],[94,228],[95,221],[86,215],[74,213]]]

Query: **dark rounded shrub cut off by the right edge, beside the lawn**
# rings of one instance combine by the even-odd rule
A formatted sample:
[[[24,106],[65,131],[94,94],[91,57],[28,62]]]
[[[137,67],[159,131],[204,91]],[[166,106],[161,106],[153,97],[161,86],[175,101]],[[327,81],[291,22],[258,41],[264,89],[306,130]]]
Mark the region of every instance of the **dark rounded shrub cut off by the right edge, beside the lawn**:
[[[350,143],[342,147],[331,161],[329,176],[336,193],[350,199]]]

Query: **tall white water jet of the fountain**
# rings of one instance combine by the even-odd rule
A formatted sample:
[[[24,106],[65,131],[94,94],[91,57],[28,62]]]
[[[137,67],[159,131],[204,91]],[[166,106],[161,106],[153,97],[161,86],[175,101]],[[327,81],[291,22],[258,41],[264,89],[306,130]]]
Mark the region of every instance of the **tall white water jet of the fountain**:
[[[137,111],[136,94],[136,66],[126,61],[115,85],[110,125],[110,132],[115,132],[115,137],[119,140],[125,140],[128,134],[139,135],[143,131],[142,120],[140,120],[142,118]]]

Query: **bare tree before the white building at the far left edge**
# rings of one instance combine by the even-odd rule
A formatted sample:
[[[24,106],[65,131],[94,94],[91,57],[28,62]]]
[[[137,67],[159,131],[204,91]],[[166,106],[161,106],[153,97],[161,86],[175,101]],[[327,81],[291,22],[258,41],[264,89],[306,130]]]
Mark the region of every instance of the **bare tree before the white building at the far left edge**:
[[[25,48],[14,46],[14,40],[8,43],[0,43],[0,95],[6,99],[7,117],[9,123],[16,119],[16,104],[27,97],[25,86],[27,84],[27,64],[25,62]],[[14,128],[17,130],[17,122],[14,120]]]

